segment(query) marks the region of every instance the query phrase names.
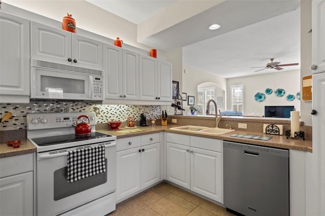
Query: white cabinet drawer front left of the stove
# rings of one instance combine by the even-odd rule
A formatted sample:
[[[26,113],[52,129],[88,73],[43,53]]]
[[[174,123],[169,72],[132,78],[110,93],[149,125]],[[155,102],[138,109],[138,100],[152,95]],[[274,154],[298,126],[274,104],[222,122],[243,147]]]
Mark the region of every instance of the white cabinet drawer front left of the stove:
[[[0,178],[33,170],[33,154],[0,159]]]

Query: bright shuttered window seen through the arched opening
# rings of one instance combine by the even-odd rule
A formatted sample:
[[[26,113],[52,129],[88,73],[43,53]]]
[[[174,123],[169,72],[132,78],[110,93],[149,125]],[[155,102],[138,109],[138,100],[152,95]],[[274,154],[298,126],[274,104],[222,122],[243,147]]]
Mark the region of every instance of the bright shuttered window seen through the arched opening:
[[[215,88],[198,89],[198,115],[205,115],[207,103],[210,99],[215,98]],[[210,114],[214,114],[214,105],[209,105]]]

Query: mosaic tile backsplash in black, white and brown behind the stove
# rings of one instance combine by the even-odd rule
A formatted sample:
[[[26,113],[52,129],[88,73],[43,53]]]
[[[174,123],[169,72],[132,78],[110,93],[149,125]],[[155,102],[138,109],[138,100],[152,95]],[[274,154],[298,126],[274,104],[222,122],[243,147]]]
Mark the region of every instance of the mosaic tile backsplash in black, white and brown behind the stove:
[[[140,121],[140,114],[145,113],[147,119],[160,119],[160,106],[148,105],[112,105],[96,104],[95,102],[62,102],[62,101],[30,101],[30,103],[0,103],[0,118],[5,113],[11,112],[12,117],[0,124],[2,130],[26,129],[27,113],[59,113],[59,112],[91,112],[98,107],[99,114],[96,114],[97,123],[107,121],[126,121],[128,116],[134,116]]]

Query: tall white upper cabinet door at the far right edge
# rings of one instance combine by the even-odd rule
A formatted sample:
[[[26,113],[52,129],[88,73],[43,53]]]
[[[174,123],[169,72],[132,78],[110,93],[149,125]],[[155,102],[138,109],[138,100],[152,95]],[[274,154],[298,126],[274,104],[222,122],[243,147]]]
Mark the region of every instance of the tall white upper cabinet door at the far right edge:
[[[312,1],[312,73],[325,71],[325,1]]]

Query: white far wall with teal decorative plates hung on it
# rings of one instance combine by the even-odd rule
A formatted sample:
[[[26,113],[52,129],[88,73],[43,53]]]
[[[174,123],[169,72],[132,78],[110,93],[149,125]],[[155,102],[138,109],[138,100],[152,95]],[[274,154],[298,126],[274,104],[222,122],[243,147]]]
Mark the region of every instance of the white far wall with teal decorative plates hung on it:
[[[244,115],[257,111],[262,116],[266,105],[294,105],[296,110],[300,111],[300,100],[296,96],[300,92],[300,70],[227,79],[227,97],[229,98],[227,107],[231,107],[230,86],[239,84],[244,84]],[[270,95],[265,94],[267,88],[273,89],[273,93]],[[278,88],[285,90],[284,96],[277,97],[274,94],[274,91]],[[257,92],[266,95],[264,101],[257,102],[255,100],[254,95]],[[295,99],[287,101],[286,96],[288,94],[295,95]]]

